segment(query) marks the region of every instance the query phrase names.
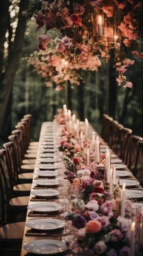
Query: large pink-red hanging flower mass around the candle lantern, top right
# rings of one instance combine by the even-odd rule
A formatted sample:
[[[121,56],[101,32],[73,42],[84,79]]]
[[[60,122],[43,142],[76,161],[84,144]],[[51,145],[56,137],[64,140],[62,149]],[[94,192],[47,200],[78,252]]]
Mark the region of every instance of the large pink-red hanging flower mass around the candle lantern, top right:
[[[97,71],[97,67],[101,66],[98,57],[108,62],[110,50],[115,49],[118,85],[131,88],[133,84],[124,73],[134,63],[130,60],[131,55],[143,58],[139,47],[141,13],[142,5],[138,0],[47,0],[34,1],[24,15],[35,17],[36,31],[45,26],[45,34],[50,29],[56,29],[63,37],[70,38],[68,50],[76,69]],[[39,49],[46,51],[47,38],[39,37]]]

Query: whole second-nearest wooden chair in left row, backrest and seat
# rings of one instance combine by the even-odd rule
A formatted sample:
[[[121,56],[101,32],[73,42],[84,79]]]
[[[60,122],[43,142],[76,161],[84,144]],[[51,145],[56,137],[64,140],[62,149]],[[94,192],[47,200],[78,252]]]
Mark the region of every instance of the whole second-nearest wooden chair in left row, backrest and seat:
[[[19,183],[19,171],[16,160],[15,143],[12,141],[4,143],[6,161],[5,165],[8,166],[8,177],[10,180],[10,193],[17,196],[29,196],[31,190],[30,183]]]

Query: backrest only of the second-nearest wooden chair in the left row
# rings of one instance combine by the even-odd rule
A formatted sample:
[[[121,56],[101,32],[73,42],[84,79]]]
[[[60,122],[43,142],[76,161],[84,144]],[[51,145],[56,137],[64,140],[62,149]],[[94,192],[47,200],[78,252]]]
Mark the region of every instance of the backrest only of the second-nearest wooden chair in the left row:
[[[15,143],[10,141],[3,144],[3,147],[6,151],[7,162],[10,168],[8,169],[8,174],[10,178],[10,190],[13,193],[13,186],[18,183],[18,163],[16,160],[16,148]]]

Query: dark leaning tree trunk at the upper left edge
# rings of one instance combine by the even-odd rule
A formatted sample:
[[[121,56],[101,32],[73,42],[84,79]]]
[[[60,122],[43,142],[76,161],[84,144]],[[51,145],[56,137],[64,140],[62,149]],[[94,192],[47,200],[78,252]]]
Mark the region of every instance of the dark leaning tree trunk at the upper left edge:
[[[7,107],[12,92],[13,82],[15,74],[18,69],[20,53],[22,50],[22,42],[24,39],[24,33],[26,29],[25,18],[22,16],[22,12],[28,8],[29,0],[21,0],[19,5],[19,18],[18,26],[16,28],[15,41],[8,56],[7,67],[5,69],[4,77],[0,88],[0,135],[5,134],[5,123],[7,123]]]

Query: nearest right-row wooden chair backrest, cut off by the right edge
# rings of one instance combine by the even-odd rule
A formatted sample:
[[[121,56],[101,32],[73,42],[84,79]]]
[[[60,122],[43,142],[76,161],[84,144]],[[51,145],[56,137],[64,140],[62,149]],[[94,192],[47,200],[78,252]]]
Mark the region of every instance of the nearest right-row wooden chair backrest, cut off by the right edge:
[[[143,141],[138,141],[137,143],[136,161],[133,174],[136,176],[143,187]]]

